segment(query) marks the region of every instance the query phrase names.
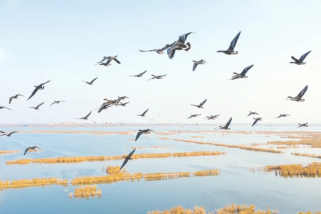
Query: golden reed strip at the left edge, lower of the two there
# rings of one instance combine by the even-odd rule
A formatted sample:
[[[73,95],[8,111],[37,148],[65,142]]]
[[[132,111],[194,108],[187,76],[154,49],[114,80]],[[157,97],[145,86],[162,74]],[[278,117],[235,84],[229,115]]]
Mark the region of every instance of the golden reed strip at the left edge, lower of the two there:
[[[62,180],[61,178],[33,178],[33,179],[21,179],[21,180],[13,180],[10,182],[8,179],[6,181],[0,180],[0,188],[22,188],[29,186],[44,186],[58,184],[63,186],[68,186],[68,180]]]

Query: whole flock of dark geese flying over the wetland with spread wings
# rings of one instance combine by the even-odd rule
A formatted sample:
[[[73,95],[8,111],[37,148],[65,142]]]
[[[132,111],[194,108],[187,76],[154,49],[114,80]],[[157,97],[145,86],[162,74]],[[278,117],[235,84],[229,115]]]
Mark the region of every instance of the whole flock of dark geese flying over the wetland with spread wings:
[[[195,33],[195,32],[189,32],[189,33],[186,33],[186,34],[183,34],[181,36],[179,36],[178,40],[176,40],[175,42],[171,43],[171,44],[167,44],[165,45],[165,47],[161,48],[161,49],[152,49],[152,50],[140,50],[139,51],[142,51],[142,52],[149,52],[149,51],[155,51],[156,53],[158,54],[163,54],[163,51],[167,50],[167,55],[170,59],[173,59],[174,58],[174,55],[175,55],[175,52],[178,51],[178,50],[185,50],[185,51],[189,51],[191,49],[191,44],[189,42],[186,43],[186,39],[187,39],[187,36],[190,35],[191,33]],[[227,50],[218,50],[216,52],[221,52],[221,53],[224,53],[224,54],[227,54],[227,55],[236,55],[238,54],[238,51],[234,51],[234,48],[236,46],[236,43],[239,39],[239,36],[241,34],[241,31],[239,31],[239,33],[235,36],[235,38],[231,41],[230,43],[230,47],[227,49]],[[303,60],[307,57],[307,55],[311,52],[308,51],[307,53],[303,54],[299,59],[296,59],[294,58],[293,56],[291,57],[294,62],[290,62],[290,63],[294,63],[296,65],[304,65],[306,64],[306,62],[303,62]],[[100,60],[100,62],[97,62],[97,64],[95,65],[103,65],[103,66],[110,66],[110,62],[112,62],[112,60],[114,60],[116,63],[120,64],[119,60],[117,59],[118,55],[114,56],[114,57],[103,57],[102,60]],[[106,61],[107,60],[107,61]],[[105,61],[105,62],[104,62]],[[193,71],[195,71],[197,65],[202,65],[204,63],[207,63],[205,60],[201,59],[201,60],[198,60],[198,61],[192,61],[194,62],[193,64]],[[233,73],[234,76],[232,76],[231,79],[228,79],[228,80],[234,80],[234,79],[240,79],[240,78],[247,78],[248,76],[246,76],[247,72],[249,69],[251,69],[254,65],[250,65],[246,68],[243,69],[243,71],[241,73]],[[138,75],[133,75],[135,77],[142,77],[144,74],[146,73],[146,71],[138,74]],[[151,75],[153,76],[152,78],[150,79],[147,79],[147,80],[151,80],[151,79],[162,79],[165,75],[160,75],[160,76],[155,76],[155,75]],[[97,79],[98,77],[96,77],[95,79],[91,80],[91,82],[86,82],[86,81],[82,81],[82,82],[85,82],[86,84],[89,84],[89,85],[93,85],[93,82]],[[146,80],[146,81],[147,81]],[[43,90],[45,88],[45,84],[50,82],[47,81],[45,83],[42,83],[40,85],[35,85],[35,89],[33,90],[33,92],[31,93],[30,97],[27,99],[29,100],[31,97],[33,97],[39,90]],[[300,93],[296,96],[296,97],[291,97],[291,96],[288,96],[287,100],[294,100],[294,101],[298,101],[298,102],[303,102],[305,101],[304,99],[302,99],[303,95],[306,93],[306,91],[308,90],[308,85],[306,85],[301,91]],[[21,95],[21,94],[16,94],[15,96],[12,96],[9,98],[9,104],[12,102],[13,99],[18,99],[19,96],[24,96],[24,95]],[[102,110],[106,110],[108,109],[109,107],[113,106],[113,105],[121,105],[121,106],[126,106],[126,104],[130,103],[130,102],[126,102],[126,103],[122,103],[121,101],[122,100],[125,100],[126,96],[122,96],[122,97],[118,97],[118,99],[116,100],[108,100],[108,99],[104,99],[105,101],[107,102],[104,102],[101,104],[100,108],[98,108],[98,113],[100,113]],[[128,98],[130,99],[130,98]],[[199,105],[194,105],[194,104],[191,104],[193,106],[196,106],[197,108],[204,108],[203,105],[204,103],[206,102],[207,99],[205,99],[202,103],[200,103]],[[54,103],[50,104],[50,105],[53,105],[55,103],[59,104],[60,102],[65,102],[65,101],[55,101]],[[36,107],[28,107],[28,108],[33,108],[35,110],[39,110],[39,107],[44,104],[43,103],[40,103],[39,105],[37,105]],[[4,106],[0,106],[0,109],[9,109],[7,107],[4,107]],[[11,109],[9,109],[11,110]],[[97,110],[97,109],[96,109]],[[146,111],[144,111],[142,114],[139,114],[139,115],[136,115],[136,116],[141,116],[141,117],[145,117],[145,114],[146,112],[148,111],[148,109]],[[92,112],[92,111],[91,111]],[[91,112],[89,114],[87,114],[85,117],[82,117],[82,118],[75,118],[75,119],[83,119],[83,120],[88,120],[88,117],[90,116]],[[258,113],[256,112],[251,112],[247,115],[258,115]],[[192,117],[197,117],[201,114],[192,114],[190,117],[188,118],[192,118]],[[218,116],[220,115],[210,115],[210,116],[206,116],[205,119],[207,120],[214,120],[215,118],[217,118]],[[276,118],[280,118],[280,117],[286,117],[286,116],[290,116],[289,114],[280,114],[278,117]],[[187,119],[188,119],[187,118]],[[257,121],[261,121],[262,120],[262,117],[258,117],[258,118],[253,118],[254,119],[254,122],[252,124],[252,126],[254,126]],[[227,129],[229,130],[229,126],[230,126],[230,123],[232,121],[232,117],[230,118],[230,120],[225,124],[225,126],[219,126],[219,129]],[[307,127],[308,126],[308,123],[303,123],[303,124],[299,124],[299,127]],[[12,131],[11,133],[9,134],[5,134],[5,132],[3,131],[0,131],[1,134],[0,136],[4,136],[6,135],[7,137],[11,137],[11,135],[15,132],[18,132],[18,131]],[[137,139],[142,135],[142,134],[149,134],[151,132],[154,132],[153,130],[151,129],[139,129],[138,130],[138,133],[136,134],[136,137],[135,137],[135,141],[137,141]],[[154,132],[156,133],[156,132]],[[26,154],[26,152],[28,150],[36,150],[36,148],[39,148],[38,146],[34,146],[34,147],[28,147],[26,148],[25,152],[23,155]],[[39,148],[40,149],[40,148]],[[40,149],[42,150],[42,149]],[[128,160],[132,160],[131,156],[134,154],[135,152],[135,149],[133,151],[131,151],[128,156],[122,156],[125,158],[125,161],[123,162],[122,166],[120,167],[120,169],[122,169],[124,167],[124,165],[126,165],[126,163],[128,162]]]

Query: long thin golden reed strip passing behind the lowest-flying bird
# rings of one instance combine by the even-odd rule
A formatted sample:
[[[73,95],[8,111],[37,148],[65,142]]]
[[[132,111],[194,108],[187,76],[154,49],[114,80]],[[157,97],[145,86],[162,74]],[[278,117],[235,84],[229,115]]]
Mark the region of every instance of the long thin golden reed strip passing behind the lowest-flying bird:
[[[166,157],[187,157],[187,156],[213,156],[223,155],[225,152],[176,152],[176,153],[152,153],[152,154],[134,154],[132,158],[166,158]],[[124,155],[124,156],[127,156]],[[83,161],[105,161],[105,160],[120,160],[122,156],[79,156],[79,157],[56,157],[56,158],[36,158],[36,159],[20,159],[13,161],[6,161],[6,164],[30,164],[30,163],[44,163],[44,164],[56,164],[56,163],[78,163]]]

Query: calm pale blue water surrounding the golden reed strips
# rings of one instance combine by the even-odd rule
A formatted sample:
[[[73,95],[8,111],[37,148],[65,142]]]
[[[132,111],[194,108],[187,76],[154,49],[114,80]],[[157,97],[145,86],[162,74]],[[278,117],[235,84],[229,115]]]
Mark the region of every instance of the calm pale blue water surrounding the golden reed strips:
[[[104,128],[51,128],[51,130],[137,130],[144,127],[104,127]],[[167,130],[213,130],[213,126],[158,126],[148,127],[154,131]],[[17,128],[13,128],[17,130]],[[40,128],[21,128],[33,130]],[[46,128],[42,128],[45,129]],[[49,128],[47,128],[48,130]],[[235,130],[253,130],[247,126],[234,126]],[[1,129],[2,130],[2,129]],[[7,128],[4,130],[11,130]],[[257,126],[255,131],[321,131],[321,127],[268,127]],[[204,134],[180,133],[160,136],[154,133],[149,137],[141,136],[138,141],[129,141],[134,135],[92,135],[89,133],[14,133],[11,138],[0,138],[0,150],[20,150],[16,154],[0,155],[0,179],[13,180],[37,177],[58,177],[73,179],[84,175],[106,175],[102,166],[121,165],[123,160],[82,162],[76,164],[28,164],[6,165],[7,160],[22,158],[42,158],[60,156],[114,156],[124,155],[130,147],[147,147],[136,149],[139,153],[189,152],[189,151],[224,151],[221,156],[200,156],[184,158],[153,158],[129,161],[126,169],[130,173],[156,172],[194,172],[206,169],[220,169],[219,176],[177,178],[161,181],[118,182],[98,184],[102,197],[86,199],[69,199],[68,187],[51,185],[46,187],[28,187],[0,191],[0,213],[119,213],[143,214],[150,210],[164,210],[182,205],[192,208],[194,205],[214,210],[229,203],[256,204],[258,209],[267,206],[279,209],[279,213],[295,214],[299,211],[321,210],[321,178],[283,178],[274,172],[252,172],[249,168],[264,165],[308,164],[319,161],[317,158],[292,156],[291,152],[321,155],[320,148],[281,149],[284,154],[253,152],[238,148],[217,147],[195,143],[163,140],[158,137],[180,138],[224,144],[265,143],[273,140],[289,140],[280,136],[259,134]],[[205,138],[190,138],[204,136]],[[297,139],[291,139],[297,140]],[[26,147],[38,145],[44,151],[28,152]],[[174,146],[169,148],[148,148],[149,146]],[[127,147],[127,148],[125,148]],[[267,146],[259,146],[267,147]],[[271,145],[269,145],[271,147]],[[276,145],[272,145],[276,149]],[[68,193],[64,189],[68,188]],[[32,206],[29,203],[32,202]],[[25,209],[28,207],[28,209]],[[44,212],[44,210],[46,210]]]

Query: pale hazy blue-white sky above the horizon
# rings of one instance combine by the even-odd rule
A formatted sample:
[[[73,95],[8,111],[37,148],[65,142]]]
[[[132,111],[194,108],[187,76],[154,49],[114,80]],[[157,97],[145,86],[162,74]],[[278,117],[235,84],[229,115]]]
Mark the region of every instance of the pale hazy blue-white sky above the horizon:
[[[22,1],[0,0],[0,123],[49,122],[253,122],[317,123],[320,114],[321,2],[281,0],[227,1]],[[216,53],[237,42],[239,55]],[[184,33],[189,52],[140,52],[159,49]],[[291,56],[309,50],[307,64]],[[103,56],[121,64],[94,66]],[[192,71],[193,60],[204,59]],[[227,81],[254,64],[248,78]],[[143,77],[129,77],[143,71]],[[153,79],[150,75],[165,75]],[[85,84],[99,77],[93,85]],[[26,99],[48,80],[44,90]],[[308,84],[305,102],[287,101]],[[9,104],[8,99],[22,94]],[[103,99],[128,96],[126,107],[99,114]],[[199,104],[204,99],[204,109]],[[49,106],[55,100],[65,103]],[[130,100],[128,100],[130,101]],[[27,107],[45,102],[38,111]],[[134,116],[149,108],[146,117]],[[75,120],[93,111],[89,120]],[[190,118],[191,114],[202,114]],[[291,114],[273,119],[279,114]]]

